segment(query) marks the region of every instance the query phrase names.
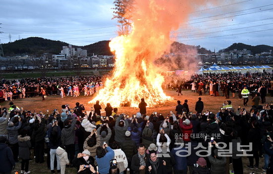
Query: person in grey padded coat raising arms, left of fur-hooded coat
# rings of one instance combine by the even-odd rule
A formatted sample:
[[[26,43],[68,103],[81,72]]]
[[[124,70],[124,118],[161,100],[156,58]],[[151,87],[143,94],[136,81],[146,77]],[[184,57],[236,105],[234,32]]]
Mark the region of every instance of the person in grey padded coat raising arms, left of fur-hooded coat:
[[[18,120],[18,122],[14,125],[13,122],[9,121],[7,123],[7,134],[8,134],[8,142],[9,147],[12,150],[13,153],[13,159],[15,162],[18,162],[18,153],[19,153],[19,147],[18,147],[18,130],[21,128],[22,122],[21,117],[14,118],[14,122]]]

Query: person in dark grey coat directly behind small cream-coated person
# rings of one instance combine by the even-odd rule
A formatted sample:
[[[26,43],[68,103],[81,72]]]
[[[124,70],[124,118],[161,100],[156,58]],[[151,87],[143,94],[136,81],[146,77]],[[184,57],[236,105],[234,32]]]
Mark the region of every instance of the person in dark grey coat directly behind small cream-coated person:
[[[75,155],[75,126],[76,119],[75,116],[72,116],[72,121],[66,119],[64,121],[64,128],[62,130],[62,144],[66,146],[66,152],[68,153],[68,159],[71,162],[74,159]]]

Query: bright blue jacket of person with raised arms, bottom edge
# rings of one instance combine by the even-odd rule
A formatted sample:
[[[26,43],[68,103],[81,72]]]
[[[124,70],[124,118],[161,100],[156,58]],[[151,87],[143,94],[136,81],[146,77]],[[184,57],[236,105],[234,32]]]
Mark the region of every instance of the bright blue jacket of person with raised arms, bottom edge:
[[[111,149],[111,147],[106,148],[107,153],[104,157],[98,158],[96,156],[96,161],[99,167],[99,173],[100,174],[108,174],[109,169],[110,169],[110,161],[114,159],[114,151]],[[122,171],[121,171],[122,172]]]

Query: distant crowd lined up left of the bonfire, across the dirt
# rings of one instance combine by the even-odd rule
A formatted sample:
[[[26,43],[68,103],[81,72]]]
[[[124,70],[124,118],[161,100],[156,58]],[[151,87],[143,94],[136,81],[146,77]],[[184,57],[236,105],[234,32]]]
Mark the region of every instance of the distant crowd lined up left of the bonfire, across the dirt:
[[[61,95],[78,97],[80,92],[84,95],[93,95],[102,87],[101,76],[68,76],[49,78],[25,78],[21,80],[0,81],[0,102],[12,101],[28,97],[37,97],[41,88],[46,95]]]

